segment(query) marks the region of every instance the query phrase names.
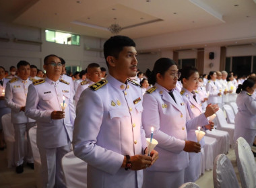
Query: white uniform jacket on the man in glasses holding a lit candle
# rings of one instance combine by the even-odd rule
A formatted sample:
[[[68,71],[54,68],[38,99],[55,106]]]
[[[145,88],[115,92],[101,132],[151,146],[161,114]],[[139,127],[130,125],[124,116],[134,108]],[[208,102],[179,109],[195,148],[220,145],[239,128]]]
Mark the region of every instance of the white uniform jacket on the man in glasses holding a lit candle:
[[[56,84],[56,87],[55,87]],[[53,82],[46,77],[30,85],[26,103],[26,115],[36,120],[36,142],[43,148],[57,148],[72,141],[75,110],[70,85],[61,81]],[[65,118],[51,120],[53,111],[61,111],[65,97]]]

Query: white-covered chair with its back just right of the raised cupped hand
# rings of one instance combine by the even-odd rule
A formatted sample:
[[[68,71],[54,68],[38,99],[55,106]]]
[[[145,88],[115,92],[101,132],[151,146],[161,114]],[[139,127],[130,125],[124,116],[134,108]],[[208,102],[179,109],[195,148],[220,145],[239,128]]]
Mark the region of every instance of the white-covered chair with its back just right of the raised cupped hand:
[[[219,109],[216,112],[216,119],[218,120],[218,125],[219,125],[219,129],[220,130],[224,130],[226,132],[228,132],[229,134],[229,142],[231,145],[231,148],[233,148],[234,146],[234,124],[228,124],[226,122],[226,119],[224,117],[224,112],[222,111],[222,109]]]

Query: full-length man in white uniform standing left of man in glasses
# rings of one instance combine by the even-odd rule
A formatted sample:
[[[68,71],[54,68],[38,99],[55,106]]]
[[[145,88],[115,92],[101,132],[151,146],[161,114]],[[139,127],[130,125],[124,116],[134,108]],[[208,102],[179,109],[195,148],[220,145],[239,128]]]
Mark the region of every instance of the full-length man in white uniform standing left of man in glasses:
[[[16,173],[23,173],[23,163],[26,156],[27,164],[34,169],[34,159],[30,146],[30,139],[28,130],[35,126],[36,121],[28,118],[24,111],[26,105],[26,98],[28,93],[28,86],[32,81],[28,79],[30,76],[30,64],[21,60],[17,64],[18,77],[13,77],[7,85],[5,90],[5,101],[8,107],[11,108],[11,123],[14,127],[15,142],[14,142],[14,162],[16,166]],[[27,133],[27,154],[25,153],[25,132]]]

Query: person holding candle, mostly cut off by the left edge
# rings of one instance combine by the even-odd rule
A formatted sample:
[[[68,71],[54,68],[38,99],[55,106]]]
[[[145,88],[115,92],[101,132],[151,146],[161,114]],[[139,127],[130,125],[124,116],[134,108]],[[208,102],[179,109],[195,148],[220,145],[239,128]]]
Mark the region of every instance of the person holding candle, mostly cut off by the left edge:
[[[0,120],[6,113],[11,113],[11,109],[5,104],[5,87],[9,79],[5,79],[5,68],[0,66]],[[0,121],[0,150],[4,150],[5,141],[3,139],[2,121]]]

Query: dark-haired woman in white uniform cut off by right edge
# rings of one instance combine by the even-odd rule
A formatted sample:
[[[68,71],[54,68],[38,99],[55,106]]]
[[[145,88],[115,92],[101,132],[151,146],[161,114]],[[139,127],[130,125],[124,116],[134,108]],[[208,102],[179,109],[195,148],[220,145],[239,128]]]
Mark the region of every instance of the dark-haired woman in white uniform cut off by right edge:
[[[239,95],[236,99],[238,113],[234,118],[234,141],[243,137],[250,146],[253,146],[256,136],[256,99],[252,97],[255,89],[255,79],[247,79],[236,89]]]

